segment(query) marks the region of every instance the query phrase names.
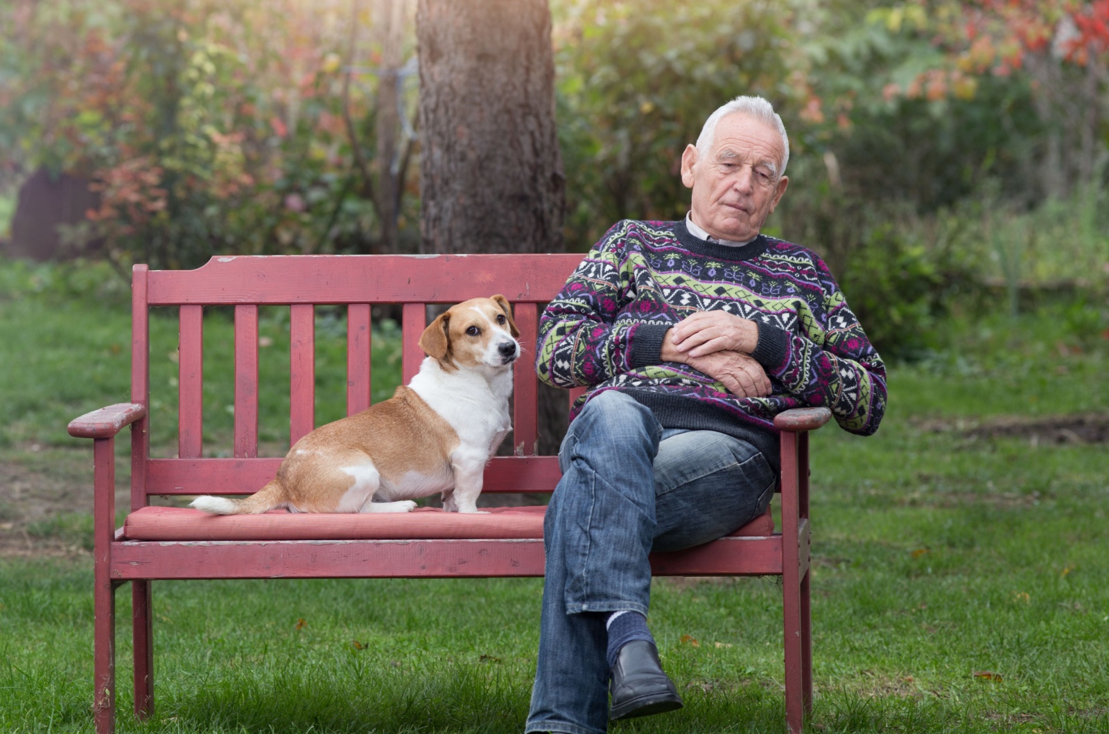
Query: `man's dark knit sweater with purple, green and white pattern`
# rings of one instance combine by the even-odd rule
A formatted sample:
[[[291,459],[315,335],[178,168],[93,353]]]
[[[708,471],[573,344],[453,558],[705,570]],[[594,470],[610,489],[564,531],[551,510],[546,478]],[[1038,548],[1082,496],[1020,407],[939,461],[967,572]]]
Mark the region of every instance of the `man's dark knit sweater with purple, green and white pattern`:
[[[671,326],[718,308],[757,324],[752,357],[770,396],[739,398],[704,373],[662,361]],[[571,420],[600,393],[621,390],[664,428],[735,436],[775,469],[776,414],[827,406],[840,426],[867,436],[886,405],[882,358],[820,256],[764,235],[720,245],[684,222],[624,220],[609,230],[543,312],[536,369],[554,387],[590,387]]]

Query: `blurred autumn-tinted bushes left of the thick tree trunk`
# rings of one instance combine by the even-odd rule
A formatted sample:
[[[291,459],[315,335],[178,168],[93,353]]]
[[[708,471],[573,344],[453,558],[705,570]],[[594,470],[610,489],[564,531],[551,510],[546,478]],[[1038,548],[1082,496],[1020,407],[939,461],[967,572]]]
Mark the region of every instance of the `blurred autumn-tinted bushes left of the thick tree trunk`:
[[[368,249],[378,222],[352,165],[339,13],[338,0],[0,7],[6,163],[91,177],[100,206],[67,238],[103,241],[123,266]],[[372,141],[362,85],[349,112]]]

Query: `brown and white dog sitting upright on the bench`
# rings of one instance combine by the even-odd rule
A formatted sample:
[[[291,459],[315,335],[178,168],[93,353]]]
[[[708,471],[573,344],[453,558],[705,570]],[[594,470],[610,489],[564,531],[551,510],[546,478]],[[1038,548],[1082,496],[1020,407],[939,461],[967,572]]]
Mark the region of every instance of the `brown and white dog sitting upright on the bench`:
[[[192,507],[215,514],[410,512],[414,499],[440,492],[448,511],[477,512],[486,462],[512,427],[519,335],[505,296],[452,306],[420,336],[428,356],[407,387],[298,440],[254,495],[203,496]]]

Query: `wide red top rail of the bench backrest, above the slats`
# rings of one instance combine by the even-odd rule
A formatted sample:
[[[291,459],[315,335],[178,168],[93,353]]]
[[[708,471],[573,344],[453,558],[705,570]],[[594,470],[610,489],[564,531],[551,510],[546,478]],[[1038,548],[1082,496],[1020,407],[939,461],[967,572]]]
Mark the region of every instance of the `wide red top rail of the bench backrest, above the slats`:
[[[150,273],[150,305],[457,303],[501,293],[545,303],[581,254],[246,255]],[[414,277],[419,273],[419,277]]]

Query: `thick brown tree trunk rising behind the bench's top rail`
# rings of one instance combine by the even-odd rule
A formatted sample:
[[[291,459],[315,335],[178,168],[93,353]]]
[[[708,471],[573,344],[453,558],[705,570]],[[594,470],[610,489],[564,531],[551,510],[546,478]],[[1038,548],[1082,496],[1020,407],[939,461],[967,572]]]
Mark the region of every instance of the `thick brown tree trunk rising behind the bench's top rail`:
[[[419,0],[420,247],[562,249],[547,0]]]

